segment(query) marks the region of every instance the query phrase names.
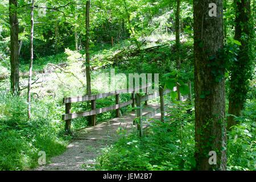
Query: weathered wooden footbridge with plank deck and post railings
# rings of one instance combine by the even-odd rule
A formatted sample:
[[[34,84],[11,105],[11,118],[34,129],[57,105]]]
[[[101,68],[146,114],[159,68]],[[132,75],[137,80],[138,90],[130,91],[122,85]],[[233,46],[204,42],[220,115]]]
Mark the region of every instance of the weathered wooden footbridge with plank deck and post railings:
[[[115,90],[115,92],[101,93],[97,95],[90,96],[80,96],[80,97],[68,97],[64,98],[63,102],[65,104],[65,114],[63,114],[63,120],[65,121],[65,131],[67,133],[71,133],[71,121],[75,118],[90,116],[91,123],[93,127],[90,127],[85,130],[80,131],[80,139],[106,139],[106,137],[114,137],[117,133],[116,131],[120,128],[120,126],[125,125],[126,130],[131,130],[135,124],[137,124],[137,130],[139,136],[143,135],[143,117],[150,118],[155,117],[157,113],[160,115],[156,117],[156,119],[164,121],[164,95],[171,92],[169,89],[159,88],[157,92],[148,93],[148,90],[151,84],[147,84],[144,86],[137,86],[133,89],[122,89]],[[145,92],[146,91],[146,92]],[[131,100],[120,103],[119,97],[120,94],[131,94]],[[142,94],[144,94],[142,96]],[[96,104],[98,99],[115,96],[115,105],[109,107],[103,107],[96,109]],[[147,101],[153,100],[156,97],[160,96],[160,104],[148,105]],[[72,103],[76,102],[91,102],[91,110],[84,111],[81,113],[71,113]],[[144,105],[143,106],[143,102]],[[126,113],[121,116],[120,109],[122,107],[131,105],[134,110],[131,113]],[[105,113],[107,111],[115,110],[115,118],[110,119],[108,122],[100,123],[96,126],[96,117],[97,114]],[[93,132],[92,132],[93,131]],[[102,137],[102,132],[106,133],[104,137]]]

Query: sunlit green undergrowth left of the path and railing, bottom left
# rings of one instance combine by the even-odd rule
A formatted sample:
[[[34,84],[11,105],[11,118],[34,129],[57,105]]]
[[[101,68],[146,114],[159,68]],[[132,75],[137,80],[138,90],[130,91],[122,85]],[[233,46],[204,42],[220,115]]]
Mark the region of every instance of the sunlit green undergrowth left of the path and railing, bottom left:
[[[65,150],[63,122],[51,102],[32,105],[33,119],[27,121],[27,104],[22,97],[0,94],[0,170],[36,167],[38,152],[46,152],[47,161]]]

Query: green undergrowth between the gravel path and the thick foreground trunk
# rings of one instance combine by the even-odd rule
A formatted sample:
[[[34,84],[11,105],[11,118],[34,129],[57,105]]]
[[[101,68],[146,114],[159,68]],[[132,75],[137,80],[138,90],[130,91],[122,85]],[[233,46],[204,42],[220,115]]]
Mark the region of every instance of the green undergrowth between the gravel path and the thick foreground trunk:
[[[146,135],[119,139],[97,159],[101,170],[189,170],[193,159],[193,115],[175,106],[166,122],[151,121]]]

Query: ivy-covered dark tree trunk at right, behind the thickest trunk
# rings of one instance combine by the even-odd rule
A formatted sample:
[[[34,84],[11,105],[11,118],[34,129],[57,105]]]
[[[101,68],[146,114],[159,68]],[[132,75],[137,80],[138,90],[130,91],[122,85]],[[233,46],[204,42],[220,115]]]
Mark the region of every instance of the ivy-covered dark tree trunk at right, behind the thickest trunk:
[[[238,62],[233,65],[230,79],[229,114],[240,116],[246,101],[251,76],[250,64],[250,0],[234,0],[236,10],[236,30],[234,39],[241,42]],[[228,118],[228,129],[236,125],[233,116]]]

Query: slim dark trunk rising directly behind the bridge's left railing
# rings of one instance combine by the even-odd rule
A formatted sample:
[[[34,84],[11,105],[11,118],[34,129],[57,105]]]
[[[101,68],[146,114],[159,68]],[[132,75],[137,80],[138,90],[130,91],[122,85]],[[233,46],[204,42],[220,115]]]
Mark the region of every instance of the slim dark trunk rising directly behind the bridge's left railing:
[[[92,94],[91,84],[90,84],[90,1],[86,1],[86,94]]]

